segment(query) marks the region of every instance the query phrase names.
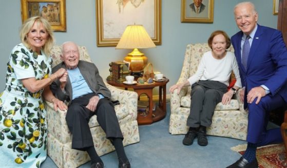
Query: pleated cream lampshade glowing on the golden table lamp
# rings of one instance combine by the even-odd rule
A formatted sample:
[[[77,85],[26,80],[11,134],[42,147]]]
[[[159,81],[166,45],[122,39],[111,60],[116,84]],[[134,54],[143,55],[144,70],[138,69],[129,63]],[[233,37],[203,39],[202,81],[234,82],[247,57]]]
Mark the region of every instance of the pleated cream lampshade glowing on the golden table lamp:
[[[116,49],[154,48],[143,25],[128,25],[116,47]]]

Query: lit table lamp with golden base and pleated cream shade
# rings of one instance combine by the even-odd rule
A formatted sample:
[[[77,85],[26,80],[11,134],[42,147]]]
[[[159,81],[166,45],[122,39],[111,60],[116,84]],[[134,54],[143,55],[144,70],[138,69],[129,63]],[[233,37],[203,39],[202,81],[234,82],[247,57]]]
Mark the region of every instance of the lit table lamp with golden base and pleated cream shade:
[[[124,58],[129,62],[130,74],[135,77],[141,77],[143,68],[147,64],[147,57],[140,52],[138,48],[154,48],[155,43],[152,42],[150,36],[142,25],[128,25],[116,46],[116,49],[133,49]]]

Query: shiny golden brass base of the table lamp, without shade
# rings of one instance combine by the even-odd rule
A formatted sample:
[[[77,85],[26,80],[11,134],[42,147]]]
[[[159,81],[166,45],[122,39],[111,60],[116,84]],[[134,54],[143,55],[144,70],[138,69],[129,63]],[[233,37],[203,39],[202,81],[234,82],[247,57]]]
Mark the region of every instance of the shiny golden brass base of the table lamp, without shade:
[[[129,62],[129,70],[131,73],[143,71],[144,66],[147,64],[147,57],[145,57],[144,53],[140,52],[137,48],[128,53],[124,60]]]

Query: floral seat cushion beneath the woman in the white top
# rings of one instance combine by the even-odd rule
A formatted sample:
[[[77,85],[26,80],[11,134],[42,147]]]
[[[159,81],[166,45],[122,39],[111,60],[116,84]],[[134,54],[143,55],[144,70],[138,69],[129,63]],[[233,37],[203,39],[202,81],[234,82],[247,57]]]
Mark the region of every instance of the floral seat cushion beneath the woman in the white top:
[[[190,95],[181,98],[180,106],[189,108],[190,107]],[[230,104],[223,105],[221,102],[215,107],[215,110],[239,110],[238,101],[232,99]]]

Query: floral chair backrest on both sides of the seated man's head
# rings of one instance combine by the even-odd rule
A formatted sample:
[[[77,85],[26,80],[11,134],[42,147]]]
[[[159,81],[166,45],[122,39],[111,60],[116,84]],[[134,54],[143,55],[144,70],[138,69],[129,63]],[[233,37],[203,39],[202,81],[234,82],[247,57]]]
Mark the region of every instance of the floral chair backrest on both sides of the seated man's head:
[[[88,51],[85,46],[78,46],[79,52],[80,52],[80,60],[92,62],[90,55],[88,54]],[[60,64],[62,62],[60,55],[62,54],[62,46],[61,45],[55,45],[51,49],[51,58],[53,60],[52,67]]]

